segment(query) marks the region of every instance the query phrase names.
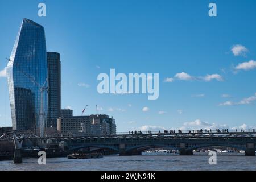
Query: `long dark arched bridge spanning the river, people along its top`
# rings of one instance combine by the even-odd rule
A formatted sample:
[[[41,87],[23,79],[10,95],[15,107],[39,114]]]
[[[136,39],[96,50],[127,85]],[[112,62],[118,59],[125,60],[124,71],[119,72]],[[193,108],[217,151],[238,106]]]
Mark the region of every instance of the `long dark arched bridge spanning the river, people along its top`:
[[[179,150],[180,155],[192,155],[193,150],[207,147],[232,147],[245,151],[245,155],[255,156],[255,131],[216,132],[216,133],[150,133],[118,134],[110,136],[67,136],[44,137],[16,134],[22,148],[59,147],[65,151],[78,151],[82,148],[93,150],[111,150],[119,155],[138,155],[150,148]],[[13,139],[10,135],[0,136],[1,140]]]

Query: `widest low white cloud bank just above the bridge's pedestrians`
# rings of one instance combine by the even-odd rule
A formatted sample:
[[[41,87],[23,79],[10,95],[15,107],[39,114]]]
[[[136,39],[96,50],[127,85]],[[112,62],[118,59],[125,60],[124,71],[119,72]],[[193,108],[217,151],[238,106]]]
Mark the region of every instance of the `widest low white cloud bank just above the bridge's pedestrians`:
[[[229,126],[227,125],[217,125],[216,123],[208,123],[203,122],[200,119],[196,119],[192,122],[185,122],[183,126],[180,127],[180,130],[216,130],[216,129],[229,129]]]

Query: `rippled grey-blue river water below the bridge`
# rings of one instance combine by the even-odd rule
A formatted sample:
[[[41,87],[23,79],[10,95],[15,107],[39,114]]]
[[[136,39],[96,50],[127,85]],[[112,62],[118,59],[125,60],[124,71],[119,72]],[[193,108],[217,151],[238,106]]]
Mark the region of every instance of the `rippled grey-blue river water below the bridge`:
[[[209,165],[209,157],[205,154],[180,155],[134,155],[134,156],[104,156],[102,159],[71,160],[67,158],[51,158],[46,165],[39,165],[38,159],[23,159],[22,164],[12,161],[1,161],[0,170],[254,170],[256,171],[256,156],[244,154],[217,155],[217,165]]]

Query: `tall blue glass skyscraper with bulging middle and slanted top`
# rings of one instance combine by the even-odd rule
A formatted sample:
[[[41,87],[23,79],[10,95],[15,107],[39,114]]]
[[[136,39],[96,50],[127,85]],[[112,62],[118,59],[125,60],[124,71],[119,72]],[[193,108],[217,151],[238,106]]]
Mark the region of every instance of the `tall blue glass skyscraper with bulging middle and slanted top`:
[[[44,131],[48,104],[47,74],[44,28],[23,19],[7,65],[13,130]]]

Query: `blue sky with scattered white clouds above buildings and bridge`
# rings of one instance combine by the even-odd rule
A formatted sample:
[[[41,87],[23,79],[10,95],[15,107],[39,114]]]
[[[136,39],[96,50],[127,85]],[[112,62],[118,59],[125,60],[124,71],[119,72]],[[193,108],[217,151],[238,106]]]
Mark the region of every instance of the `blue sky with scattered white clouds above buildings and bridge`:
[[[46,17],[38,16],[40,2],[46,3]],[[208,16],[210,2],[217,5],[217,17]],[[0,5],[0,71],[22,19],[42,24],[47,51],[61,55],[61,107],[71,107],[75,115],[85,105],[85,113],[94,114],[98,104],[100,114],[117,119],[118,131],[256,126],[254,0]],[[158,100],[98,94],[97,76],[110,68],[159,73]],[[6,77],[0,73],[0,126],[11,126]]]

